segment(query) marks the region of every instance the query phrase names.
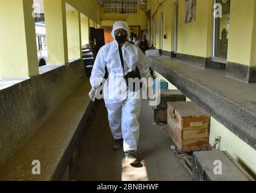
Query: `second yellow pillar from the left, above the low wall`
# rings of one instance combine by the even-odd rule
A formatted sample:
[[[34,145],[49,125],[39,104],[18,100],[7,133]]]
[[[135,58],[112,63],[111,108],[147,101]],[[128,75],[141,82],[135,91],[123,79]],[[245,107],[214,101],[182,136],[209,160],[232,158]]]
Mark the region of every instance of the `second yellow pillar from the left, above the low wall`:
[[[66,8],[64,0],[44,0],[48,63],[68,63]]]

